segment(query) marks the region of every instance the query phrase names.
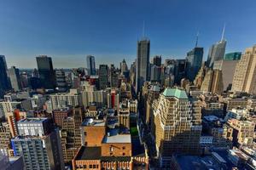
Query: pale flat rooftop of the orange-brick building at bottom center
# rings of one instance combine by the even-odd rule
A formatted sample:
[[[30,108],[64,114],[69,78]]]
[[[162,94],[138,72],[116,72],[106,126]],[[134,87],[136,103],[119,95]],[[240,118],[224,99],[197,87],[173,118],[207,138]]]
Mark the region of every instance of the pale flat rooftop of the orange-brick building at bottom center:
[[[113,136],[105,136],[102,143],[131,143],[131,134],[117,134]]]

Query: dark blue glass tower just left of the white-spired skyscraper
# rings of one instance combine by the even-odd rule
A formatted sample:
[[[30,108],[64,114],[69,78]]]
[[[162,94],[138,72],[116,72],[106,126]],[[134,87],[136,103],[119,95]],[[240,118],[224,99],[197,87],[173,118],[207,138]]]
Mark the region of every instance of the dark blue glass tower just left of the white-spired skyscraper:
[[[187,78],[193,82],[198,71],[201,69],[204,48],[198,48],[197,43],[189,53],[187,53]]]

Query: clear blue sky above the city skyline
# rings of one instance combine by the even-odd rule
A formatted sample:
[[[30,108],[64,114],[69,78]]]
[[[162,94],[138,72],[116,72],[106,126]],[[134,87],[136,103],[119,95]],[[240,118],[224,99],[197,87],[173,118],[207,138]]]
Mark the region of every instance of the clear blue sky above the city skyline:
[[[96,65],[136,58],[137,39],[145,32],[151,57],[183,58],[195,46],[207,50],[226,23],[226,52],[256,43],[255,0],[0,0],[0,54],[8,66],[36,67],[35,56],[48,54],[54,67]]]

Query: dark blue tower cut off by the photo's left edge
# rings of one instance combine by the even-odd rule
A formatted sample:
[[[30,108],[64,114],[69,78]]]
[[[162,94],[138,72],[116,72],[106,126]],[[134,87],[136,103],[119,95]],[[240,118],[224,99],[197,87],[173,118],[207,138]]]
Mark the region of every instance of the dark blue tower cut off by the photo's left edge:
[[[0,97],[3,97],[4,92],[9,89],[7,65],[4,55],[0,55],[0,80]]]

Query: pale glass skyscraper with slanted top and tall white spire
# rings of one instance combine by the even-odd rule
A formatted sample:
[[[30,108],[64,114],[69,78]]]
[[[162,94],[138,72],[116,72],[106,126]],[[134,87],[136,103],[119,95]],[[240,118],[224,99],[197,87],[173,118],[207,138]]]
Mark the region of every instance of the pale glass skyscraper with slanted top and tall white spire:
[[[213,44],[212,47],[209,49],[209,54],[207,58],[208,67],[212,67],[215,61],[224,59],[225,48],[227,44],[227,41],[224,40],[224,31],[225,31],[225,26],[222,32],[221,40]]]

